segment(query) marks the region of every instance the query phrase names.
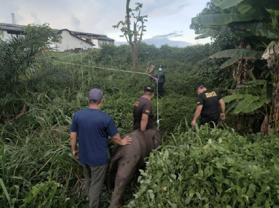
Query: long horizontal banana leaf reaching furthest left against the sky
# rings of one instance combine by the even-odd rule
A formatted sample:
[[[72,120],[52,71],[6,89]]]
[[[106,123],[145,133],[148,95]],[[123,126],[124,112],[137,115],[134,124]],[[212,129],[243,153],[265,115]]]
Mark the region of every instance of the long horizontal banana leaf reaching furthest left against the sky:
[[[201,15],[192,18],[192,23],[202,25],[226,25],[231,22],[259,20],[258,14],[215,14],[215,15]]]

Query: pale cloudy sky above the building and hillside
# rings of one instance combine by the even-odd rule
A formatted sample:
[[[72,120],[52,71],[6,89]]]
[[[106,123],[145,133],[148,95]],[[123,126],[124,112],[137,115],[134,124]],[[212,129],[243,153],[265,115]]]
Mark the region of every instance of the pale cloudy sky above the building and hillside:
[[[190,44],[210,42],[210,38],[195,40],[197,36],[189,29],[191,18],[205,7],[209,0],[131,0],[143,4],[142,15],[148,15],[143,39],[157,36]],[[104,34],[116,41],[120,29],[114,29],[120,20],[125,20],[126,0],[0,0],[0,22],[16,24],[49,23],[53,29],[69,29],[79,32]]]

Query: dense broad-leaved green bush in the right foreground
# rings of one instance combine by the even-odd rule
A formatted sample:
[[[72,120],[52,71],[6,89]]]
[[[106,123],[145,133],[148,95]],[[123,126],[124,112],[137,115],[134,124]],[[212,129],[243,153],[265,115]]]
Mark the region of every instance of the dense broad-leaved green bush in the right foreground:
[[[178,126],[150,154],[126,207],[278,207],[278,145],[276,136]]]

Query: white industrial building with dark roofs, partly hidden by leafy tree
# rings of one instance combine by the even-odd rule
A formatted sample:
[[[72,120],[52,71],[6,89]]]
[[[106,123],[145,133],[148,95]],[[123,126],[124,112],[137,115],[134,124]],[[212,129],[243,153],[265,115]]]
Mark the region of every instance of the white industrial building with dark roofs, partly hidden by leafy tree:
[[[24,37],[24,25],[0,23],[0,39],[8,40],[11,37]],[[51,45],[57,51],[80,51],[100,48],[104,44],[113,45],[114,39],[108,38],[106,35],[83,33],[70,31],[68,29],[57,30],[62,37],[61,43]]]

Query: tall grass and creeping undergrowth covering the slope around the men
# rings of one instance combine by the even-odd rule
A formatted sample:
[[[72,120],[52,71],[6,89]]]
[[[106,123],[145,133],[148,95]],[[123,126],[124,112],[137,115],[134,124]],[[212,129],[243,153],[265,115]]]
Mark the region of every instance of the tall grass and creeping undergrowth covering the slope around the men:
[[[226,76],[219,76],[222,71],[216,70],[214,63],[204,59],[211,51],[215,52],[209,44],[156,48],[143,43],[139,50],[140,72],[145,72],[150,59],[155,66],[165,66],[165,96],[158,103],[162,135],[170,135],[184,117],[188,121],[192,119],[196,108],[196,82],[205,82],[208,88],[216,89],[226,80]],[[122,135],[131,130],[133,104],[142,95],[143,87],[150,84],[144,74],[134,77],[133,73],[88,67],[132,71],[129,49],[125,45],[104,45],[88,54],[47,55],[87,66],[51,63],[48,56],[43,55],[37,59],[40,64],[35,73],[29,74],[27,68],[27,78],[22,85],[18,82],[20,93],[16,98],[21,105],[15,112],[22,111],[17,116],[10,115],[11,119],[5,118],[5,122],[0,121],[0,186],[3,190],[0,204],[3,207],[20,207],[24,203],[30,207],[35,201],[42,207],[44,201],[49,201],[52,207],[86,207],[82,168],[73,158],[69,144],[73,114],[88,106],[86,99],[91,88],[100,88],[104,92],[102,110],[113,117]],[[156,89],[156,84],[151,84]],[[151,103],[156,128],[156,96]],[[236,120],[238,117],[231,121],[232,125]],[[187,128],[181,127],[180,131]],[[109,148],[112,145],[109,141]],[[55,197],[51,198],[54,192]],[[108,202],[110,196],[111,193],[104,190],[101,200]]]

